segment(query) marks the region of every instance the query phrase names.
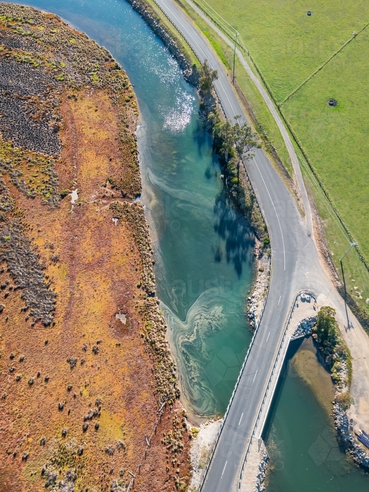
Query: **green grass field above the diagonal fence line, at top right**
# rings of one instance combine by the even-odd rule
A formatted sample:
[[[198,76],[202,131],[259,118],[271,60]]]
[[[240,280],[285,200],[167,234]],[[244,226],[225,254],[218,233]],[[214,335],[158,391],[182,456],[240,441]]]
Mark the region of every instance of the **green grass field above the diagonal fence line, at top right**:
[[[369,22],[367,0],[208,3],[241,33],[278,102],[337,51],[353,31],[360,31]]]

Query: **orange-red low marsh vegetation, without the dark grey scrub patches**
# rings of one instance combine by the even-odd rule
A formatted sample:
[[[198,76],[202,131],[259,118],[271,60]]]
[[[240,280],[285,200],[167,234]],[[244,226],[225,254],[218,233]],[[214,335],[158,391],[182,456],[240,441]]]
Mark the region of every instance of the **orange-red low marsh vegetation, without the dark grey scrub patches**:
[[[78,200],[72,205],[67,195],[49,208],[39,197],[26,198],[4,176],[58,296],[49,327],[25,317],[21,290],[11,290],[3,301],[0,490],[45,490],[48,469],[54,468],[56,484],[74,469],[76,491],[110,490],[114,479],[125,490],[129,471],[136,475],[136,490],[172,490],[177,467],[177,477],[180,468],[188,475],[188,462],[180,465],[186,454],[179,455],[168,472],[160,439],[174,417],[181,422],[179,409],[167,407],[145,460],[145,434],[154,429],[157,401],[153,359],[140,337],[145,320],[137,309],[146,297],[137,288],[143,266],[130,225],[113,221],[110,204],[123,199],[107,180],[124,172],[119,113],[106,92],[92,89],[79,92],[77,100],[65,97],[61,113],[62,155],[55,170],[59,189],[77,188]],[[133,112],[129,121],[132,131]],[[12,285],[3,266],[0,282]],[[125,324],[116,314],[125,315]],[[45,463],[49,468],[41,474]]]

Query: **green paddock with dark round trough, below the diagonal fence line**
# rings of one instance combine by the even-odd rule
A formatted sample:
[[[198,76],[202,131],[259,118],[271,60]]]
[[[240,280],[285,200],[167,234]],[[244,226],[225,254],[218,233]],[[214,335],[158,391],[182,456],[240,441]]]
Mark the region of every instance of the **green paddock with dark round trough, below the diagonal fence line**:
[[[282,110],[339,215],[369,258],[369,28],[320,70]],[[329,98],[338,100],[330,107]]]

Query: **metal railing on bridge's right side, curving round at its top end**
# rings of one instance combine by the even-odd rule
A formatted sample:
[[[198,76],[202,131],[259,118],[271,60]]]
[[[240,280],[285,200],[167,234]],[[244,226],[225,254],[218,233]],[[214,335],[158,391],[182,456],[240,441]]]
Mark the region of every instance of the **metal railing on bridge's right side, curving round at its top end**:
[[[254,424],[254,427],[253,427],[253,430],[252,430],[252,433],[251,433],[251,436],[250,436],[250,439],[248,441],[248,444],[247,444],[247,448],[246,448],[246,453],[245,453],[245,457],[244,457],[244,461],[242,463],[242,466],[241,466],[241,471],[240,471],[240,477],[239,477],[239,482],[238,482],[238,488],[240,489],[241,488],[241,482],[242,482],[242,474],[244,472],[244,469],[245,469],[245,464],[246,464],[246,461],[247,461],[247,457],[249,455],[249,452],[250,452],[250,447],[251,447],[251,442],[252,442],[252,438],[254,437],[255,435],[255,430],[256,430],[256,427],[259,423],[259,420],[260,420],[260,416],[261,416],[261,412],[263,410],[263,407],[264,407],[264,403],[267,399],[267,396],[268,396],[268,391],[269,391],[269,388],[272,384],[272,380],[273,380],[273,376],[275,374],[275,371],[277,369],[277,363],[279,362],[279,356],[280,356],[280,353],[282,351],[282,347],[283,347],[283,342],[285,340],[285,338],[287,337],[287,333],[288,333],[288,328],[290,326],[290,322],[291,322],[291,318],[292,318],[292,314],[294,313],[295,311],[295,307],[296,307],[296,301],[298,299],[298,297],[301,295],[301,294],[308,294],[309,296],[311,296],[313,299],[315,299],[316,301],[316,295],[311,292],[310,290],[307,290],[307,289],[302,289],[300,290],[296,296],[295,296],[295,300],[294,302],[292,303],[292,306],[291,306],[291,309],[290,309],[290,313],[289,313],[289,316],[288,316],[288,319],[287,319],[287,323],[286,323],[286,326],[284,328],[284,332],[283,332],[283,337],[282,339],[280,340],[280,343],[279,343],[279,348],[278,348],[278,352],[277,352],[277,357],[276,357],[276,360],[274,362],[274,365],[273,365],[273,369],[272,369],[272,372],[270,374],[270,377],[269,377],[269,381],[268,381],[268,384],[267,384],[267,387],[265,389],[265,392],[264,392],[264,397],[263,397],[263,400],[261,402],[261,405],[260,405],[260,408],[259,408],[259,412],[258,412],[258,415],[257,415],[257,418],[256,418],[256,421],[255,421],[255,424]],[[283,364],[283,361],[284,361],[284,358],[285,358],[285,355],[287,353],[287,349],[288,349],[288,346],[289,346],[289,342],[287,343],[286,345],[286,348],[284,350],[284,354],[283,354],[283,360],[280,364],[280,367],[278,369],[278,375],[277,375],[277,380],[275,381],[275,387],[277,385],[277,381],[279,379],[279,374],[280,374],[280,371],[282,369],[282,364]],[[274,390],[273,390],[273,394],[274,394]],[[270,401],[269,401],[269,405],[268,405],[268,410],[266,412],[266,415],[265,415],[265,418],[264,418],[264,422],[262,424],[262,427],[261,427],[261,430],[260,430],[260,433],[262,432],[263,428],[264,428],[264,424],[265,424],[265,421],[266,421],[266,418],[268,416],[268,411],[269,411],[269,407],[271,405],[271,402],[272,402],[272,399],[273,399],[273,394],[272,396],[270,397]]]

